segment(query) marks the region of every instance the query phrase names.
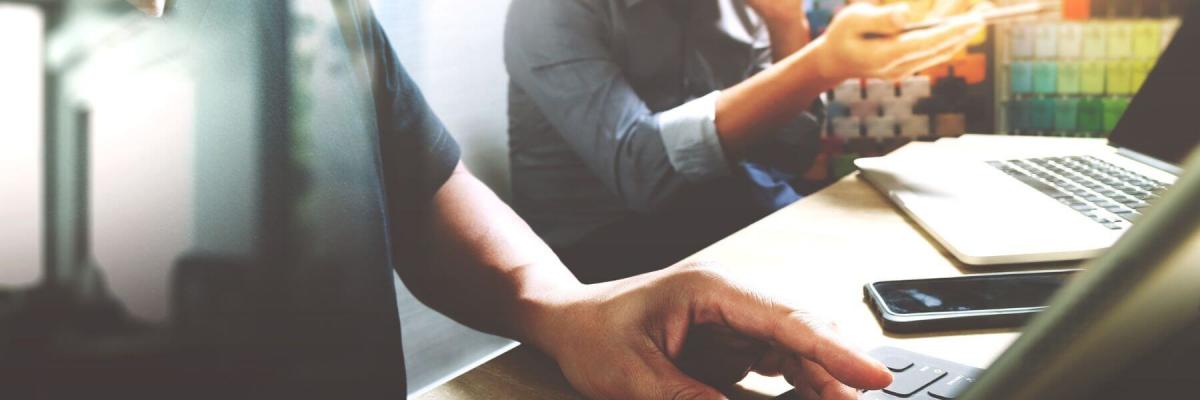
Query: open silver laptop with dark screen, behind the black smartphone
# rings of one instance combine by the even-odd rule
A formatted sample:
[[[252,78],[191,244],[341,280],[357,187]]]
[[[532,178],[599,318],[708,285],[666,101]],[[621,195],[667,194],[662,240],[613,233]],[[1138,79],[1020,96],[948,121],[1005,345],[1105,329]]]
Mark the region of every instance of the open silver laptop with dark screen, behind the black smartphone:
[[[1175,183],[1183,157],[1200,143],[1200,7],[1190,8],[1108,145],[995,137],[980,144],[988,151],[955,151],[961,145],[938,142],[926,156],[857,165],[967,264],[1099,255]]]

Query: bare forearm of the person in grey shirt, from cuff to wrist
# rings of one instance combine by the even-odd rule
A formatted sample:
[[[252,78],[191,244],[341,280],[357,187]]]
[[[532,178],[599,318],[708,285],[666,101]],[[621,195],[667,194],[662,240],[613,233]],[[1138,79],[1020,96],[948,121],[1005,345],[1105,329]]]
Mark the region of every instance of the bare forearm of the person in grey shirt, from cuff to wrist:
[[[726,89],[716,101],[716,131],[726,153],[744,155],[770,129],[804,113],[838,78],[816,67],[821,38]]]

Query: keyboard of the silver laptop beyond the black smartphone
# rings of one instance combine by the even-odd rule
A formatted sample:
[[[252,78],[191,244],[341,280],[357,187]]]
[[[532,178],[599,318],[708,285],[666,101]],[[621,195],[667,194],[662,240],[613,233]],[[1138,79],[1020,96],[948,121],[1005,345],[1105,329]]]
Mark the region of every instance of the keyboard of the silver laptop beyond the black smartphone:
[[[1092,156],[989,161],[1109,229],[1126,229],[1168,185]]]

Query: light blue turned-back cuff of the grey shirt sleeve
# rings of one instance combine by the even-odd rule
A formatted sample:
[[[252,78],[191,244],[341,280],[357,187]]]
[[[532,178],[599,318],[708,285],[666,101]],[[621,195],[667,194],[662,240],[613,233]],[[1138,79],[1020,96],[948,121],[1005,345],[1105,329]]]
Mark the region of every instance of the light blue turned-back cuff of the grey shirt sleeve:
[[[667,159],[690,181],[730,174],[725,150],[716,136],[716,97],[713,91],[659,115],[659,132]]]

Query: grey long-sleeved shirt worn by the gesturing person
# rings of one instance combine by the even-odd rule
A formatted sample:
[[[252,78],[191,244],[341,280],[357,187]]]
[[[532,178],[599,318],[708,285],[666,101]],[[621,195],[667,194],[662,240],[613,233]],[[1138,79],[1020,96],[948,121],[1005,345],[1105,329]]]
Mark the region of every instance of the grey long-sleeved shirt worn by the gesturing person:
[[[719,91],[772,61],[743,0],[514,0],[504,47],[514,205],[552,245],[694,184],[757,184],[746,198],[758,205],[731,207],[798,198],[778,171],[731,163],[718,141]],[[797,157],[811,160],[820,126],[805,114],[775,144],[800,143]]]

